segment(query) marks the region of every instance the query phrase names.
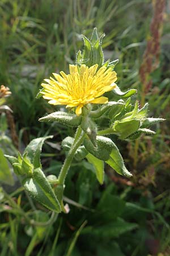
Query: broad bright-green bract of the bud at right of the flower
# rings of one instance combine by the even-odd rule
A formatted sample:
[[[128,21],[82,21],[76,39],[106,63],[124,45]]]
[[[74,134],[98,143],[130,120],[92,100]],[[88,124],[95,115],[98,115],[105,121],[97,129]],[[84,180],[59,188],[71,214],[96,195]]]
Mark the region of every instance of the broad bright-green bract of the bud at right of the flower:
[[[140,121],[138,120],[127,120],[127,121],[116,121],[113,125],[113,129],[120,133],[120,139],[126,139],[129,135],[135,133],[139,129]]]

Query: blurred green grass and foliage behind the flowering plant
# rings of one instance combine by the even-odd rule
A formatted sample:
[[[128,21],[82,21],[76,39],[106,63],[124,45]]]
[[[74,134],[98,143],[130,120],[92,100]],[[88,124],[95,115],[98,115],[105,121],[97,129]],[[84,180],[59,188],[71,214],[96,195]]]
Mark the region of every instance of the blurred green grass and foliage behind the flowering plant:
[[[1,256],[170,255],[169,24],[170,5],[164,0],[1,0],[0,84],[12,92],[6,104],[13,111],[0,116]],[[166,121],[154,127],[154,136],[137,142],[114,138],[133,173],[130,180],[105,167],[101,186],[90,164],[74,162],[65,189],[70,212],[52,224],[48,210],[29,199],[10,174],[3,154],[15,155],[31,139],[53,134],[41,160],[45,174],[59,172],[65,159],[61,141],[74,131],[40,123],[38,118],[56,108],[36,94],[44,78],[75,63],[81,35],[90,36],[94,27],[107,35],[105,59],[119,59],[121,90],[137,89],[134,101],[148,102],[150,117]],[[158,51],[147,52],[150,70],[144,55],[149,42],[158,43]],[[149,87],[139,72],[142,65]]]

